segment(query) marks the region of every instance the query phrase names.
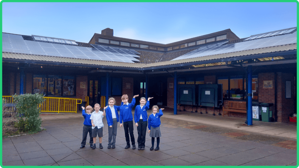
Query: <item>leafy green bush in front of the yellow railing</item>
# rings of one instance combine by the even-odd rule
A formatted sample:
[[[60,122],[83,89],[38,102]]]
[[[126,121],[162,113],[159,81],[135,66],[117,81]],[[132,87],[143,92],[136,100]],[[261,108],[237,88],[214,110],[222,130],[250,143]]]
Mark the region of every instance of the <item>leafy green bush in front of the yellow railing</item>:
[[[43,94],[21,94],[13,95],[16,101],[16,108],[18,109],[20,117],[15,126],[19,129],[19,132],[39,132],[41,131],[42,121],[39,117],[39,104],[44,99]]]

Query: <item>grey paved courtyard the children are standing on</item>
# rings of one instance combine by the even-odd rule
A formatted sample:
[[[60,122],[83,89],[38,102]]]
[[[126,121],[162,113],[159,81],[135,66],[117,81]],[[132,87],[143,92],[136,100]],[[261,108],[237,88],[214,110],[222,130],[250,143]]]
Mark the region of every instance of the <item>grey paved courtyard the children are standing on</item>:
[[[148,114],[151,113],[148,110]],[[158,151],[149,150],[149,134],[145,150],[133,150],[132,146],[124,149],[126,140],[119,123],[116,148],[107,149],[106,117],[103,118],[104,148],[99,149],[97,140],[97,148],[93,150],[87,140],[86,146],[80,149],[84,121],[80,111],[41,114],[45,131],[2,139],[2,165],[297,165],[297,125],[294,123],[253,121],[253,126],[243,126],[244,119],[228,116],[190,112],[173,115],[171,109],[163,113]],[[135,123],[134,135],[138,146]]]

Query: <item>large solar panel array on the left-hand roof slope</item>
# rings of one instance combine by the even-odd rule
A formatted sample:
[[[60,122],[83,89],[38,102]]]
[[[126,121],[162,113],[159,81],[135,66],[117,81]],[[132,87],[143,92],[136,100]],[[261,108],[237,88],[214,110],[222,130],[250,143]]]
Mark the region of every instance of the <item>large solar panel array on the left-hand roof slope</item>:
[[[48,39],[47,39],[48,40]],[[54,40],[53,40],[54,41]],[[62,56],[116,62],[139,62],[138,52],[123,48],[92,45],[95,48],[24,40],[20,35],[2,33],[2,51],[24,54]],[[139,53],[138,53],[139,54]]]

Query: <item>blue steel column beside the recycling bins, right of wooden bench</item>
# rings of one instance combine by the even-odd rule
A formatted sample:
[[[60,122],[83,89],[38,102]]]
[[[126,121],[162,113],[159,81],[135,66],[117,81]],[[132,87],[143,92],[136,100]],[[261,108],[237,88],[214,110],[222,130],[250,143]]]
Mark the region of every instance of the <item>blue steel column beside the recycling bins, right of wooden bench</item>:
[[[248,74],[248,94],[252,94],[252,69],[251,65],[247,67],[247,74]],[[247,118],[249,126],[252,125],[252,95],[248,96],[248,111],[247,111]]]

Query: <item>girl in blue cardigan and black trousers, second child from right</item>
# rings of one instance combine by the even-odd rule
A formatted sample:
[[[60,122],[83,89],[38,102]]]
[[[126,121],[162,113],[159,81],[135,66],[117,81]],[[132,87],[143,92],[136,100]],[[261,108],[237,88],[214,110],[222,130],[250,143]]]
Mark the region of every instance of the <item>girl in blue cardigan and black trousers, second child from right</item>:
[[[145,148],[145,134],[147,132],[147,110],[149,109],[149,100],[152,98],[153,97],[149,97],[146,100],[145,97],[141,97],[140,105],[136,106],[135,108],[134,120],[138,132],[138,150],[144,150]],[[145,103],[147,104],[145,105]]]

